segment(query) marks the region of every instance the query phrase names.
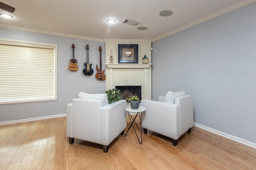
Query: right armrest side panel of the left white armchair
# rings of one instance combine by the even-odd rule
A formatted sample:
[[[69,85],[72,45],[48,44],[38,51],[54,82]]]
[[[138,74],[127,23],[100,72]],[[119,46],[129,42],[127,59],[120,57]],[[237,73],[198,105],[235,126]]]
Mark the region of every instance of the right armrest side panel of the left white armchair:
[[[100,144],[110,144],[126,128],[126,100],[100,108]]]

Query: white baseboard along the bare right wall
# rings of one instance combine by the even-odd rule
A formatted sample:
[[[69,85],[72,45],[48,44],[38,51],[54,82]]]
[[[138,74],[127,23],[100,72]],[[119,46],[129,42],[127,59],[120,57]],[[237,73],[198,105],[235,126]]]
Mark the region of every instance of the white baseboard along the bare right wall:
[[[228,133],[224,133],[224,132],[222,132],[222,131],[218,131],[218,130],[216,130],[216,129],[212,129],[212,128],[210,128],[210,127],[207,127],[207,126],[204,126],[204,125],[195,123],[195,122],[194,122],[194,126],[199,127],[199,128],[201,128],[201,129],[204,129],[204,130],[206,130],[206,131],[215,133],[215,134],[220,135],[220,136],[222,136],[222,137],[226,137],[226,138],[228,138],[228,139],[231,139],[231,140],[233,140],[233,141],[242,143],[242,144],[244,144],[244,145],[247,145],[247,146],[249,146],[249,147],[252,147],[252,148],[255,148],[255,149],[256,149],[256,143],[253,143],[253,142],[250,142],[250,141],[246,141],[246,140],[241,139],[241,138],[239,138],[239,137],[235,137],[235,136],[229,135]]]

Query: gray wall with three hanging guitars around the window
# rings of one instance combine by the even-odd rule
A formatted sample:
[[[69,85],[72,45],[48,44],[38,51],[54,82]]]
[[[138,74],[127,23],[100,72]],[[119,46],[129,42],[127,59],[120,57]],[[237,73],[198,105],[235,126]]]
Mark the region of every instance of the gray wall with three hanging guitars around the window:
[[[100,63],[100,53],[98,51],[100,45],[103,48],[102,69],[105,69],[105,43],[10,29],[0,29],[0,38],[58,45],[58,100],[0,105],[0,122],[64,114],[66,113],[66,105],[71,103],[73,98],[77,98],[79,92],[105,92],[105,81],[100,82],[95,78],[96,64]],[[75,59],[77,59],[79,66],[76,72],[68,70],[69,61],[72,59],[72,44],[75,45]],[[84,62],[87,61],[85,49],[87,44],[90,46],[89,60],[94,69],[94,74],[89,77],[82,73]]]

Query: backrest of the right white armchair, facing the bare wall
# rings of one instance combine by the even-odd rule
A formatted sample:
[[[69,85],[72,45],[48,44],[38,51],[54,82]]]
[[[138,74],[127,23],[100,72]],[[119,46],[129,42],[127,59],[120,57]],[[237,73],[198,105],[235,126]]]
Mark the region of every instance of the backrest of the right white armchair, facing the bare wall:
[[[191,127],[193,121],[190,95],[176,98],[175,104],[180,106],[180,134],[183,134]]]

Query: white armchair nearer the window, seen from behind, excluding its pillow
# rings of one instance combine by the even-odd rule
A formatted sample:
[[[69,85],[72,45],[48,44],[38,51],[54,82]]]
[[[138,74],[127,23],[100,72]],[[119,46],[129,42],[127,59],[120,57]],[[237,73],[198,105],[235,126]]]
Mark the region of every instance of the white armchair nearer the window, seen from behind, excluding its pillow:
[[[67,105],[66,135],[70,144],[74,138],[82,139],[103,145],[103,151],[108,152],[108,145],[124,134],[126,100],[106,106],[103,103],[104,100],[75,98]]]

